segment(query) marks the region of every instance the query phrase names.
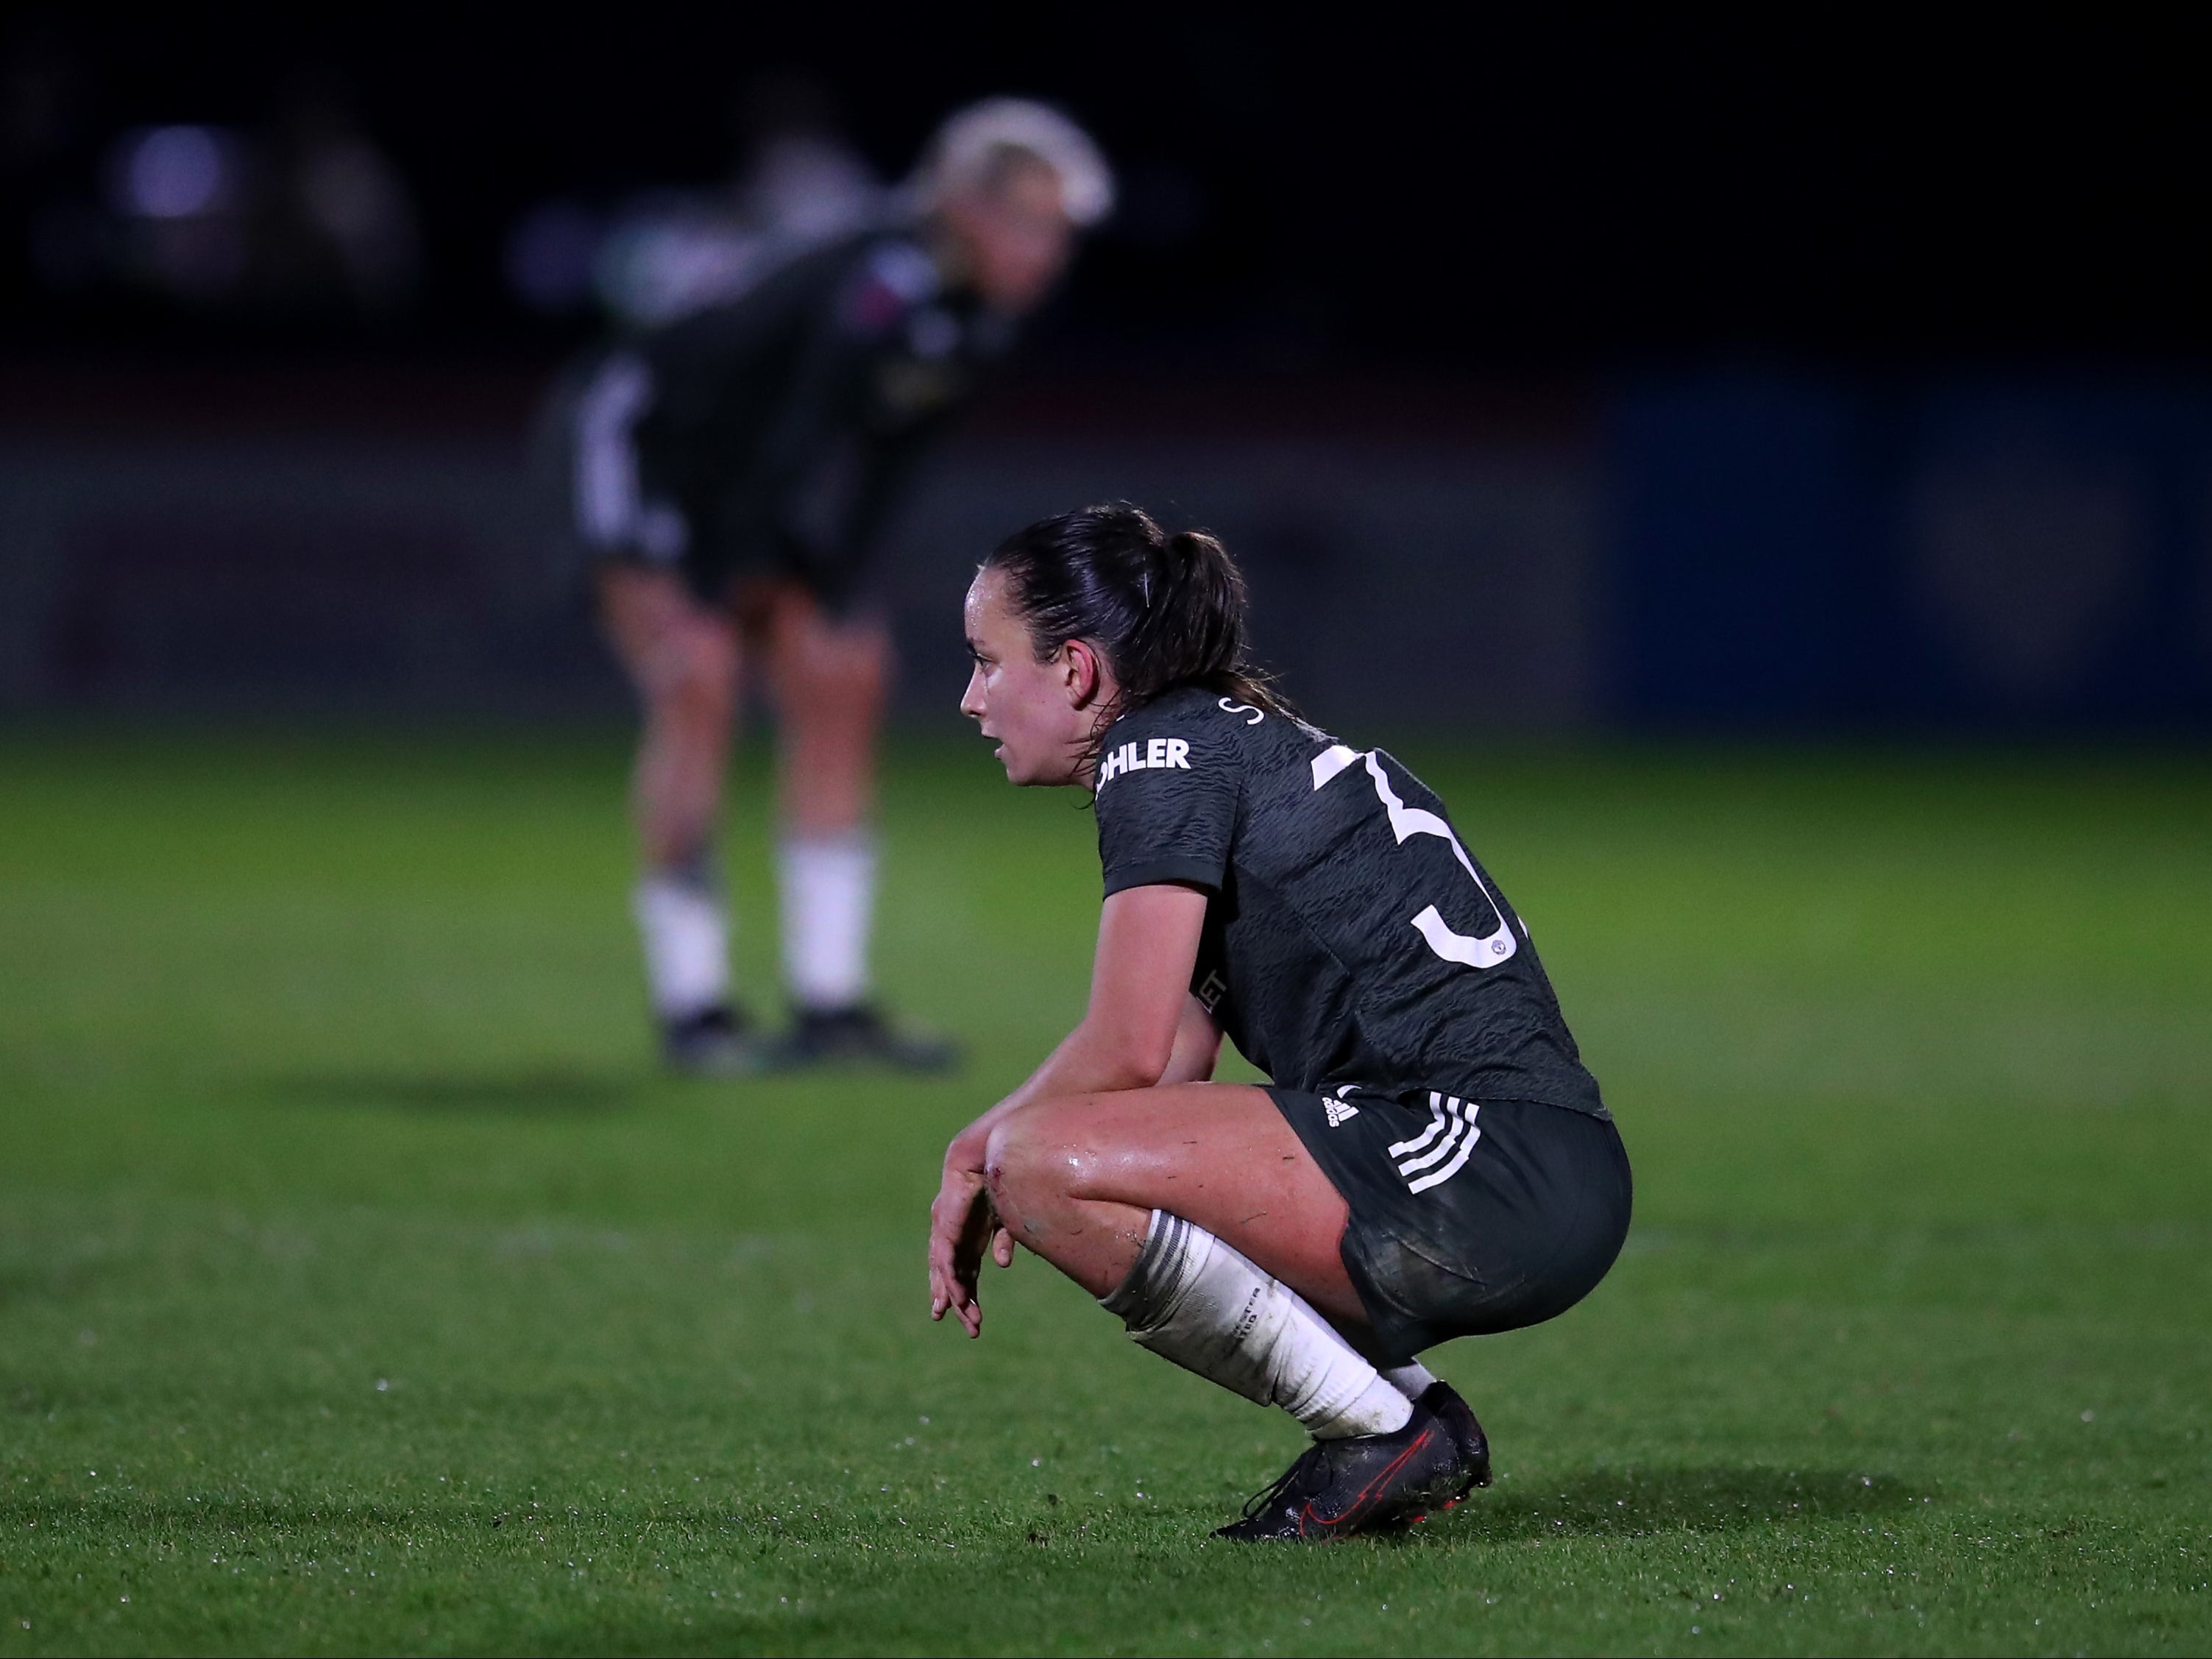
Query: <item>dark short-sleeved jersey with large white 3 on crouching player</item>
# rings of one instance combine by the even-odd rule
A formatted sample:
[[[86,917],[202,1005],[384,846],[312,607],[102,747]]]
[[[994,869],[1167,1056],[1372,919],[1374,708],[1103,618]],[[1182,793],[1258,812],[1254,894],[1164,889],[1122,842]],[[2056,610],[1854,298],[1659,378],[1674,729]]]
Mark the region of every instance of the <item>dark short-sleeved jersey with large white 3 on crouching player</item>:
[[[1199,688],[1106,732],[1106,894],[1208,894],[1192,993],[1283,1088],[1438,1088],[1606,1117],[1528,929],[1383,750]]]

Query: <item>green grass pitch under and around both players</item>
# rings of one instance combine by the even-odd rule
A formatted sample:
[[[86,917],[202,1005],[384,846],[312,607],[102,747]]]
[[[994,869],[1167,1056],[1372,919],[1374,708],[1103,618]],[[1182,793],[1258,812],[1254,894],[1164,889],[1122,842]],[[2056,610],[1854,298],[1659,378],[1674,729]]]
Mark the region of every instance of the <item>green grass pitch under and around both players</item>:
[[[681,1086],[615,734],[0,739],[0,1652],[2212,1646],[2212,765],[1402,752],[1637,1225],[1436,1358],[1498,1486],[1234,1551],[1287,1420],[1035,1261],[925,1318],[945,1137],[1082,1004],[1066,794],[894,752],[962,1077]]]

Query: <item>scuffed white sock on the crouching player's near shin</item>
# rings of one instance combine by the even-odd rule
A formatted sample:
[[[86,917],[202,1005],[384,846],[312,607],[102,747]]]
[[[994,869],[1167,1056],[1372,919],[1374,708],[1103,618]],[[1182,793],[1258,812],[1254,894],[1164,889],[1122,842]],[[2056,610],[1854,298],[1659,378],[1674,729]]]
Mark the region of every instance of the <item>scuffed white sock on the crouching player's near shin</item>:
[[[1316,1440],[1389,1433],[1413,1416],[1298,1292],[1166,1210],[1152,1210],[1137,1265],[1099,1307],[1161,1358],[1283,1407]]]

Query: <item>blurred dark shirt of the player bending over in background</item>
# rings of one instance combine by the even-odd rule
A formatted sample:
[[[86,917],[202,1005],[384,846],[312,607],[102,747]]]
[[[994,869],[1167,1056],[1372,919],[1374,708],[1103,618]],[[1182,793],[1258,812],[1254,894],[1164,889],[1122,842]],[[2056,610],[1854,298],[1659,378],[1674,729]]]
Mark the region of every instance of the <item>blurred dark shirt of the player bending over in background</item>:
[[[695,584],[779,566],[838,597],[902,476],[1011,343],[1009,316],[947,290],[891,230],[628,343],[653,372],[639,482],[681,509]]]

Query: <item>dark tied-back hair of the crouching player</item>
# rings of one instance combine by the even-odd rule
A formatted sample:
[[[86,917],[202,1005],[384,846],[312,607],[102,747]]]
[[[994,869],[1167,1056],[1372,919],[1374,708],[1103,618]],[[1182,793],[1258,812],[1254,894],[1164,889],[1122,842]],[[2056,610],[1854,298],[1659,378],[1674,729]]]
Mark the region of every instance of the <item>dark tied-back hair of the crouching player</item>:
[[[1117,714],[1177,686],[1292,712],[1250,659],[1243,573],[1206,531],[1168,535],[1128,502],[1084,507],[1015,531],[982,568],[1006,573],[1040,661],[1068,639],[1106,657],[1121,688]]]

